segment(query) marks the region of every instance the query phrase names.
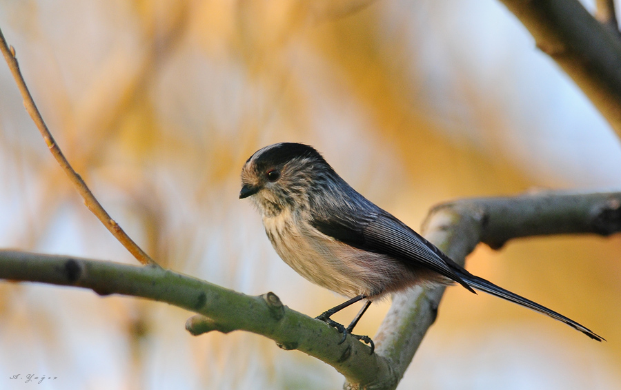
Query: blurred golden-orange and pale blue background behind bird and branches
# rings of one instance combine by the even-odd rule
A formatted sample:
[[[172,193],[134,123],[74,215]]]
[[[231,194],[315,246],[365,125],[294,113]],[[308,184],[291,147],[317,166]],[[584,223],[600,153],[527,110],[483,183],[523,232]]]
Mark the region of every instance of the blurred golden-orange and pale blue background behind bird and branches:
[[[61,149],[146,252],[310,316],[342,297],[282,263],[237,199],[259,147],[314,145],[415,229],[455,198],[621,185],[618,138],[498,1],[8,0],[0,27]],[[83,206],[3,62],[0,91],[0,247],[137,264]],[[620,249],[620,236],[477,247],[474,274],[608,342],[453,287],[400,389],[621,388]],[[357,333],[373,336],[388,307]],[[0,283],[0,389],[26,386],[6,379],[18,373],[57,376],[39,389],[342,386],[260,336],[190,336],[190,315]]]

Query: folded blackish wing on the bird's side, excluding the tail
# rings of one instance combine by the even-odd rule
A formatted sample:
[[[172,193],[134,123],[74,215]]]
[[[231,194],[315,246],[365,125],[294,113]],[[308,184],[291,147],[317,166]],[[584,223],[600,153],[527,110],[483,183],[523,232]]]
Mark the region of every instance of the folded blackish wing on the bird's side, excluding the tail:
[[[368,204],[373,205],[371,202]],[[475,292],[460,276],[465,270],[449,256],[388,212],[373,206],[372,212],[367,211],[366,207],[364,212],[363,207],[346,212],[335,210],[316,217],[311,224],[319,232],[342,243],[426,267]],[[343,217],[351,215],[355,215],[355,219]]]

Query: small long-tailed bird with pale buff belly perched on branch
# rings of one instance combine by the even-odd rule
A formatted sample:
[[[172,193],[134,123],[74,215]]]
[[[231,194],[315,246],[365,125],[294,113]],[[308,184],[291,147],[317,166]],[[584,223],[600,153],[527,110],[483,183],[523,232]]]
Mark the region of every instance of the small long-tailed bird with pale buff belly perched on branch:
[[[457,283],[546,314],[602,341],[556,311],[474,276],[401,220],[368,201],[314,147],[275,143],[257,150],[242,168],[239,198],[250,198],[277,254],[312,283],[349,298],[323,320],[346,336],[375,345],[353,329],[371,302],[422,285]],[[348,327],[330,317],[355,302],[364,306]]]

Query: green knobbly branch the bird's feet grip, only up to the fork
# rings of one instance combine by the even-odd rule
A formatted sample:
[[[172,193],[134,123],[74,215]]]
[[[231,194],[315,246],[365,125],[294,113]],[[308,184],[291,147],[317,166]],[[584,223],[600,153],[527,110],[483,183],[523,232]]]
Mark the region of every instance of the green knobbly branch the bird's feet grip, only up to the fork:
[[[161,267],[14,251],[0,251],[0,278],[166,302],[201,314],[186,324],[193,334],[213,330],[257,333],[283,349],[308,353],[355,382],[371,382],[389,372],[386,360],[377,353],[371,355],[362,342],[350,337],[339,345],[342,336],[336,329],[289,309],[273,293],[247,296]]]

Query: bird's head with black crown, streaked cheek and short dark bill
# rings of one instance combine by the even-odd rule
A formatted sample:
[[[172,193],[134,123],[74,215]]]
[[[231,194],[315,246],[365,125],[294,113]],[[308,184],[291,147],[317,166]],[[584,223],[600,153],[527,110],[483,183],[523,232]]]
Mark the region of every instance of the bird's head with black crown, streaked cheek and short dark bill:
[[[301,143],[275,143],[257,150],[242,168],[239,198],[252,199],[263,216],[307,207],[313,190],[334,170],[317,150]]]

